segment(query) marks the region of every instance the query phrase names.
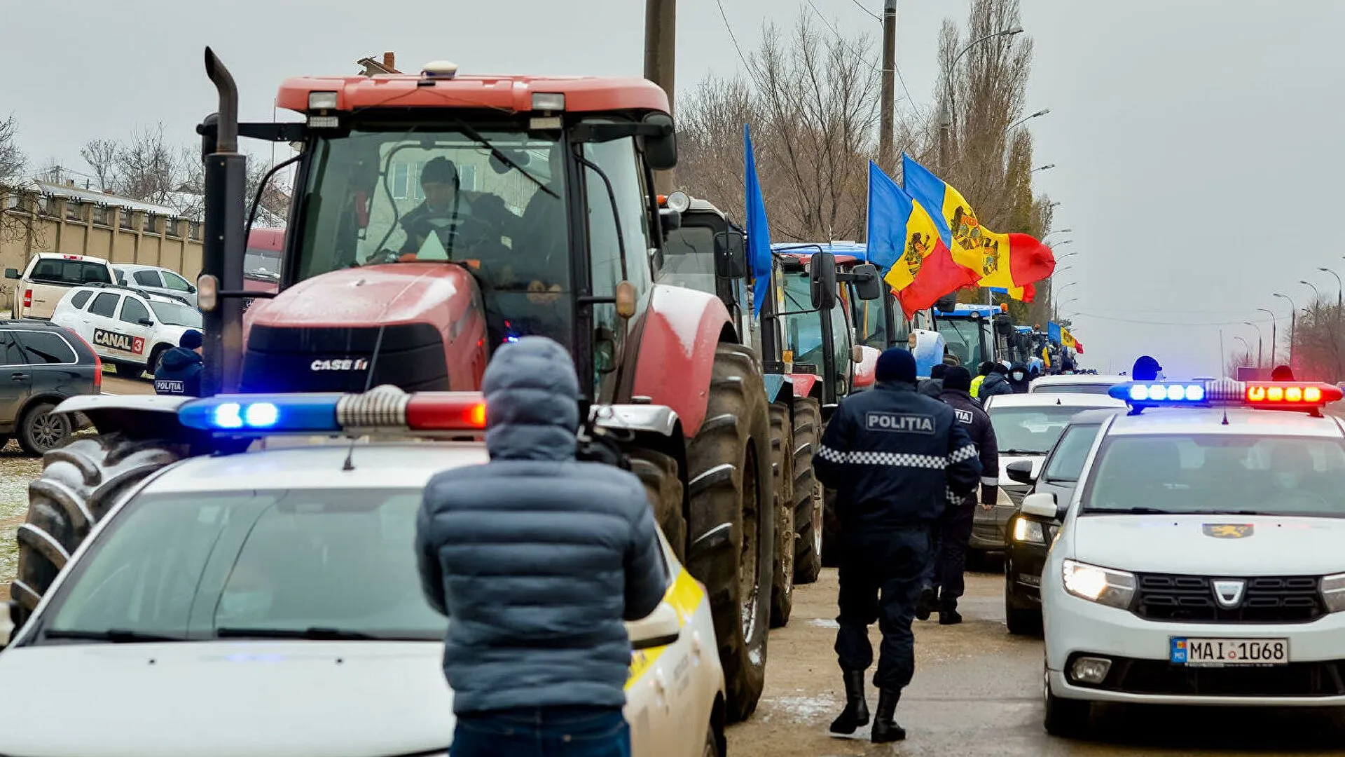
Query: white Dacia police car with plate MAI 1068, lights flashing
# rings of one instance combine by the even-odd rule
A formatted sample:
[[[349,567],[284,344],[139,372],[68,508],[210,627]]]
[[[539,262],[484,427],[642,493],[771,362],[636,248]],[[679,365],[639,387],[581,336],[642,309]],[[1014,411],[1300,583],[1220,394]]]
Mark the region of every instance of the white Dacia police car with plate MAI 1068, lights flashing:
[[[1092,702],[1345,704],[1345,426],[1326,384],[1131,383],[1041,577],[1046,730]],[[1171,405],[1171,407],[1162,407]],[[1279,411],[1279,412],[1274,412]]]

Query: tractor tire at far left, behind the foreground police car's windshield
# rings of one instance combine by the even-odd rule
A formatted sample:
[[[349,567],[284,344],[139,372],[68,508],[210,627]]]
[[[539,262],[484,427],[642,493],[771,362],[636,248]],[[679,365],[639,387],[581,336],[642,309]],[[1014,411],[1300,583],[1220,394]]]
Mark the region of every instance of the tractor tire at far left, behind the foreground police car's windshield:
[[[121,494],[184,454],[161,440],[106,434],[43,455],[42,475],[28,485],[28,517],[16,533],[19,572],[9,587],[23,618]]]

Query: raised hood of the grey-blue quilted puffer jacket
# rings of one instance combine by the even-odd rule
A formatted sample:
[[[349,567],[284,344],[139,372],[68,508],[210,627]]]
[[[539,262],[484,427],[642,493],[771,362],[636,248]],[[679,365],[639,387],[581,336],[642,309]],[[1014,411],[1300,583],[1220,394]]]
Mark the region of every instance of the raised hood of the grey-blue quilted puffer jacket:
[[[482,378],[486,449],[492,459],[573,459],[578,378],[565,348],[523,337],[500,348]]]

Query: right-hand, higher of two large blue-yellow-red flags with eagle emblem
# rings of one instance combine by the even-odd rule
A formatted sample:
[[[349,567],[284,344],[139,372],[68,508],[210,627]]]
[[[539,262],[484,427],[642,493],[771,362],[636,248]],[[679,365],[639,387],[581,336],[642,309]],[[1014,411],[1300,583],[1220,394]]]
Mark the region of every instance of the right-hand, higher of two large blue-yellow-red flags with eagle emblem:
[[[952,256],[979,272],[976,286],[1003,290],[1009,296],[1032,302],[1033,282],[1050,277],[1056,256],[1029,234],[998,234],[976,220],[971,203],[956,189],[933,175],[909,155],[901,156],[905,189],[916,202],[939,209],[939,236]]]

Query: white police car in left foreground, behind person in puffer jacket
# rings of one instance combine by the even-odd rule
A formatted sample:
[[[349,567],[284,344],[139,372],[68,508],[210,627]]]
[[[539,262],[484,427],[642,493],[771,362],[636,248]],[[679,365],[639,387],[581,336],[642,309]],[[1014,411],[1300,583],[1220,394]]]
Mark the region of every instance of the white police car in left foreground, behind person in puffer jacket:
[[[62,409],[81,401],[97,399]],[[217,396],[178,418],[265,439],[161,469],[94,527],[0,652],[17,723],[0,754],[447,754],[449,621],[412,544],[430,475],[487,461],[479,442],[425,439],[479,434],[480,393]],[[351,419],[373,438],[342,438]],[[633,753],[722,754],[710,606],[663,555],[663,603],[627,625]]]

